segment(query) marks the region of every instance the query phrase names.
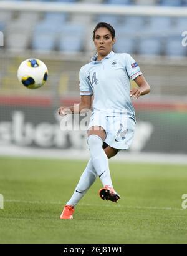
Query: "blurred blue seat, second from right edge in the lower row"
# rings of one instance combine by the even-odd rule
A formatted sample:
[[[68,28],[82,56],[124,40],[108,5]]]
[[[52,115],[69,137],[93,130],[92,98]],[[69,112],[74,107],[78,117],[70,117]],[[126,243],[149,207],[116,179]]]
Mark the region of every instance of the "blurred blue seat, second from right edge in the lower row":
[[[141,38],[138,44],[139,54],[160,55],[161,54],[161,39],[158,37]]]

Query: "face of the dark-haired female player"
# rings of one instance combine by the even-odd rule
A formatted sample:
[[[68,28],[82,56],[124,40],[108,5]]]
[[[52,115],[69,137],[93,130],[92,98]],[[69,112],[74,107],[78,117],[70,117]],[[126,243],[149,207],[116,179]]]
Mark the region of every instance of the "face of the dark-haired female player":
[[[112,39],[112,34],[105,27],[100,27],[95,31],[94,44],[98,52],[98,57],[105,57],[112,51],[112,46],[115,39]]]

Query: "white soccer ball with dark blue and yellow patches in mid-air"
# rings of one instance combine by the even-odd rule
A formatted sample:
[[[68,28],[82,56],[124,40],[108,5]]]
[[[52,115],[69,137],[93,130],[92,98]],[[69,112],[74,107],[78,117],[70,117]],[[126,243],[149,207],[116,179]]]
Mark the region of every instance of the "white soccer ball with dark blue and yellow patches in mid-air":
[[[39,59],[26,59],[21,62],[17,71],[19,81],[29,89],[43,86],[48,77],[47,67]]]

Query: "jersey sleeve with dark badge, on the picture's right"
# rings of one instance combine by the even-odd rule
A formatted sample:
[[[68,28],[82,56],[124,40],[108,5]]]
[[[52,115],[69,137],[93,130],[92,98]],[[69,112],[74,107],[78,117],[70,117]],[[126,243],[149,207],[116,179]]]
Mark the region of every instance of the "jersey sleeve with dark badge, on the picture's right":
[[[129,54],[125,54],[125,65],[130,79],[134,80],[138,76],[142,75],[138,63]]]

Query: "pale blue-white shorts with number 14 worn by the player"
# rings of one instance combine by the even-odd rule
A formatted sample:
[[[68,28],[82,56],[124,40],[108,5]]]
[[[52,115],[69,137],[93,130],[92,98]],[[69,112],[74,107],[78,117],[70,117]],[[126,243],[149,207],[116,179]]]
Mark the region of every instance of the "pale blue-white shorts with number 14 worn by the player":
[[[105,143],[115,149],[127,150],[132,144],[135,125],[135,119],[127,114],[112,116],[102,111],[93,111],[88,130],[92,126],[101,126],[107,134]]]

